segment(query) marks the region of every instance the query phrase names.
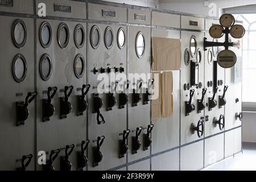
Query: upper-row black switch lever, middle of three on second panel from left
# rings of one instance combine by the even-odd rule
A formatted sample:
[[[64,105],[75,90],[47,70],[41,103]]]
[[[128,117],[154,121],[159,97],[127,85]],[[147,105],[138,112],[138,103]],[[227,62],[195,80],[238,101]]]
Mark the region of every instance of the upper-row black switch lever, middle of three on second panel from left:
[[[68,93],[69,90],[69,93]],[[67,115],[72,111],[72,105],[68,101],[69,96],[71,95],[73,86],[65,86],[64,94],[65,97],[60,97],[60,119],[67,118]]]

